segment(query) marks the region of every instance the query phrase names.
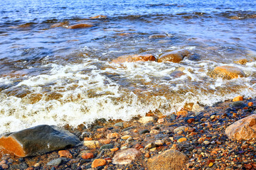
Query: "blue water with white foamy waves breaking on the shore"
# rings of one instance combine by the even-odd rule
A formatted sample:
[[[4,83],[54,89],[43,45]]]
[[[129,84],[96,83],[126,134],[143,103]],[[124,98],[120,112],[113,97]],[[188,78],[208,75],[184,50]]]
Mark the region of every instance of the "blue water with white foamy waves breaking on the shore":
[[[254,97],[255,1],[1,1],[0,130],[90,125],[187,103]],[[105,15],[107,18],[90,17]],[[51,28],[90,23],[91,28]],[[166,38],[149,39],[164,34]],[[114,64],[121,55],[187,49],[180,63]],[[234,61],[247,59],[247,64]],[[231,65],[246,77],[208,76]],[[185,75],[172,77],[176,69]]]

